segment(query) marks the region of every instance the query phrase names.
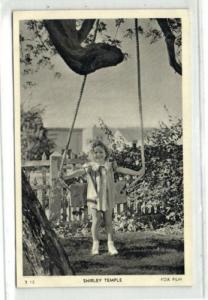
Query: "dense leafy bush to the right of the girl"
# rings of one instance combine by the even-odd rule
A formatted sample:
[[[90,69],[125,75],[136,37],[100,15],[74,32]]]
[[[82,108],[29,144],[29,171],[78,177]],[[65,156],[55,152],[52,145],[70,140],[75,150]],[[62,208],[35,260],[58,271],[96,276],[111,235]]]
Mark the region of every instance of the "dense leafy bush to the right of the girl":
[[[120,216],[123,224],[121,228],[132,228],[134,231],[145,226],[155,228],[162,224],[183,224],[183,147],[180,144],[182,122],[171,116],[169,121],[169,126],[161,123],[160,128],[153,130],[146,139],[145,176],[129,190],[128,186],[135,178],[125,176],[129,209]],[[140,147],[123,143],[121,148],[122,141],[119,144],[115,141],[112,131],[104,122],[101,123],[101,128],[108,136],[112,160],[120,166],[139,170]],[[119,175],[117,179],[122,179],[122,176]],[[130,226],[129,222],[132,222]]]

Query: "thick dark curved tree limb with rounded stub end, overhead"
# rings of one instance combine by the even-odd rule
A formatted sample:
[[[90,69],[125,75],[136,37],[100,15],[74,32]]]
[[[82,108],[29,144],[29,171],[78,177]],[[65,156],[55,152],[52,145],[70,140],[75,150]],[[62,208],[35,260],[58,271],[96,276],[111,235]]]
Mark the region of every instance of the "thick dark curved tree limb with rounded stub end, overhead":
[[[124,59],[124,54],[115,46],[92,43],[81,46],[95,20],[85,20],[76,30],[76,20],[45,20],[50,38],[66,64],[76,73],[87,75],[104,67],[115,66]]]

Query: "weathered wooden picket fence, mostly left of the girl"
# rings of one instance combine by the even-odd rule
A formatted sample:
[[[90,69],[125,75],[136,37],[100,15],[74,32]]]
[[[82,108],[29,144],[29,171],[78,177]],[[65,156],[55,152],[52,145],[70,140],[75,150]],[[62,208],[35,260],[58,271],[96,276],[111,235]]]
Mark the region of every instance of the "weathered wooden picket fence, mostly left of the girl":
[[[46,160],[43,155],[40,161],[23,162],[22,168],[49,220],[54,223],[85,220],[88,217],[87,206],[81,203],[76,206],[74,201],[71,201],[69,190],[65,189],[59,181],[61,159],[61,154],[54,152],[49,160]],[[83,163],[84,161],[79,158],[67,159],[64,165],[66,174],[70,174]],[[125,210],[126,205],[127,203],[117,203],[115,214]]]

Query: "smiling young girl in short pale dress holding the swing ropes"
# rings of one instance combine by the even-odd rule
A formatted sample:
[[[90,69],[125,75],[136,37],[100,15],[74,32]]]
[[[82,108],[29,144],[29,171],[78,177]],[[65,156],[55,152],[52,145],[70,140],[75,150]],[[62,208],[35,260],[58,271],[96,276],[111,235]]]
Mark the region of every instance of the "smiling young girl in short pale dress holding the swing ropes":
[[[67,179],[87,176],[87,205],[92,215],[92,255],[99,254],[98,229],[103,214],[108,238],[108,252],[110,255],[118,254],[113,242],[112,212],[114,208],[114,172],[140,176],[144,175],[144,169],[134,171],[128,168],[118,167],[109,162],[109,151],[101,141],[95,141],[91,147],[91,162],[83,165],[83,168],[75,170],[67,176]]]

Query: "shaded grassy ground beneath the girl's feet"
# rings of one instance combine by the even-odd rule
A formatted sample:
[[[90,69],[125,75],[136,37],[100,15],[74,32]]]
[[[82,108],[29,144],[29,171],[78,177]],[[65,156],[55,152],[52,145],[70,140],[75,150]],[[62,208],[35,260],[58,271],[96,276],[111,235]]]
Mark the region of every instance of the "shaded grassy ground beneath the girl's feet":
[[[153,231],[117,232],[119,255],[107,254],[105,235],[101,235],[100,255],[91,256],[91,238],[62,239],[76,275],[159,275],[184,273],[182,235]]]

